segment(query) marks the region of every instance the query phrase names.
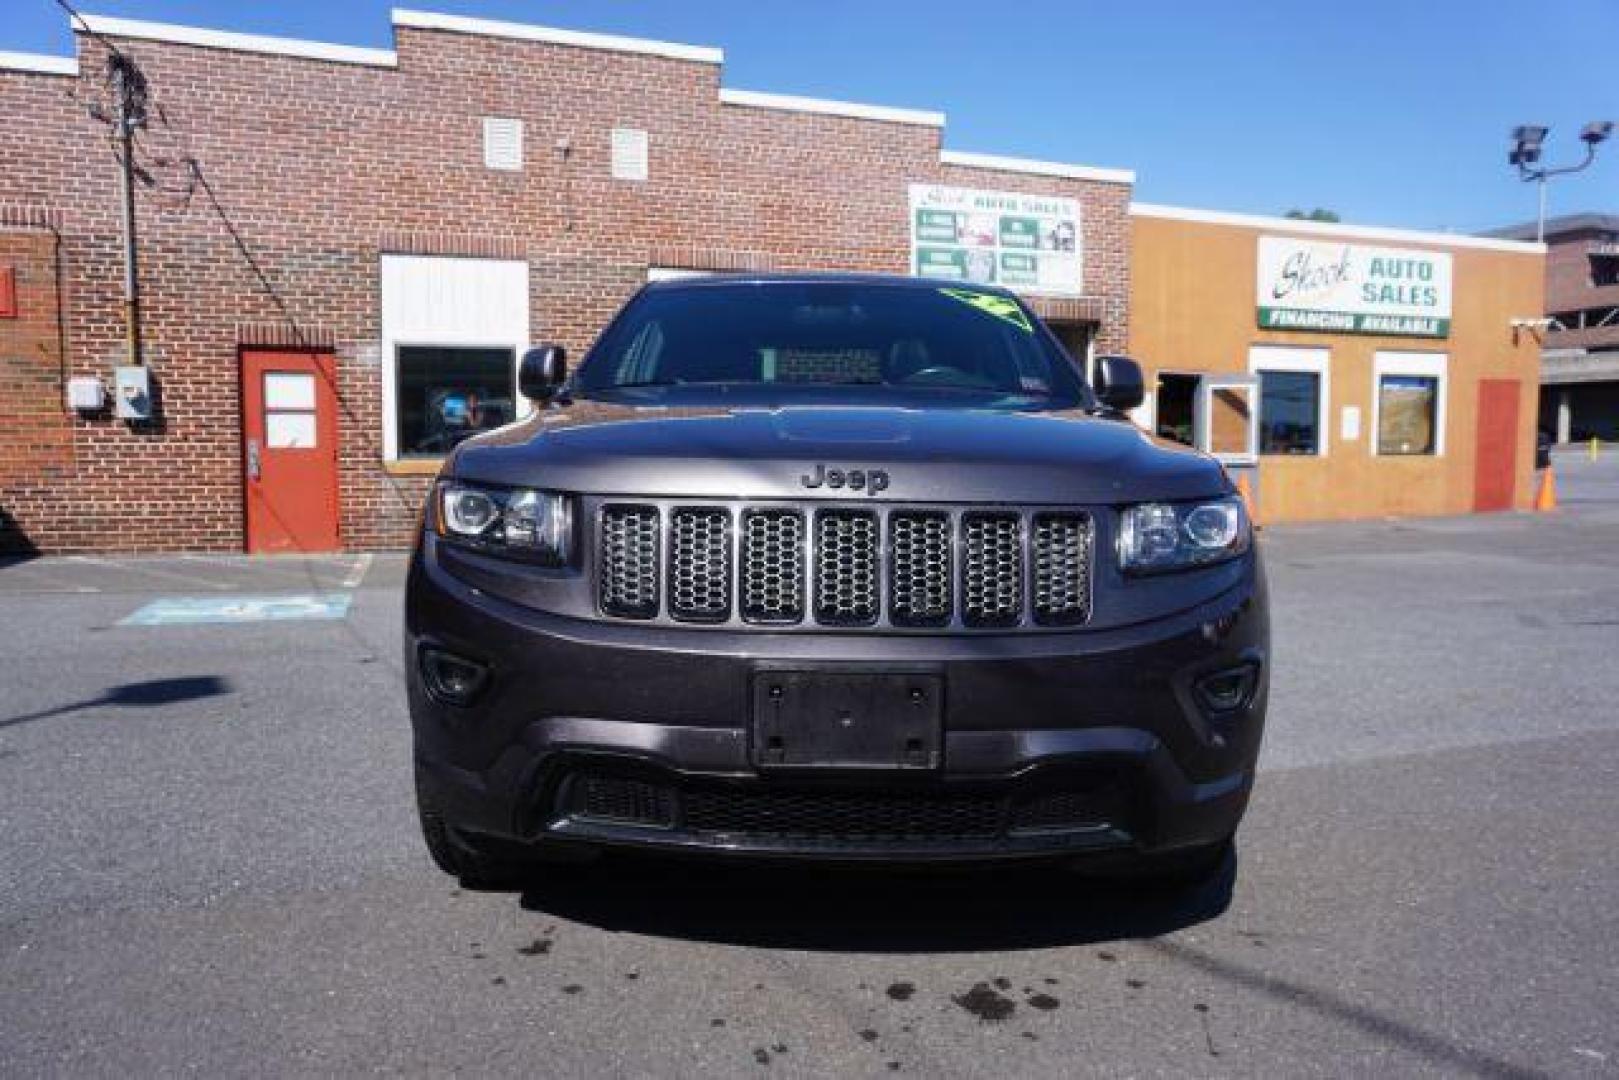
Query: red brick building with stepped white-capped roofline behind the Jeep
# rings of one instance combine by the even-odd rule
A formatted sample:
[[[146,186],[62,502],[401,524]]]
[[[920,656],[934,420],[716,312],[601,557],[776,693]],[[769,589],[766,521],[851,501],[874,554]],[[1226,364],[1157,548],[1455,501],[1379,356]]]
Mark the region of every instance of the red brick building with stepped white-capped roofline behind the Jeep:
[[[578,356],[649,274],[905,272],[911,185],[1077,202],[1083,290],[1036,304],[1070,343],[1124,345],[1132,175],[944,151],[937,113],[722,87],[712,49],[431,13],[395,13],[393,50],[87,29],[76,60],[0,55],[21,118],[0,257],[29,311],[0,321],[8,547],[254,547],[241,371],[280,350],[330,355],[342,544],[402,544],[437,457],[402,377],[487,376],[491,350],[510,371],[533,340]],[[123,350],[118,170],[86,113],[97,36],[168,120],[139,198],[151,423],[62,406],[65,377],[110,381]],[[186,154],[251,262],[206,191],[175,194],[189,180],[164,162]],[[521,406],[508,389],[492,408]]]

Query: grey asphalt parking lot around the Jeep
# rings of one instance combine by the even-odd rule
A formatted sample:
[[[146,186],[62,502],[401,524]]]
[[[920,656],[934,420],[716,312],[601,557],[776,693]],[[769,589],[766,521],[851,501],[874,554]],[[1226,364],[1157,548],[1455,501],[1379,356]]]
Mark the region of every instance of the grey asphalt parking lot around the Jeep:
[[[1266,529],[1260,787],[1179,900],[461,891],[416,836],[397,557],[0,565],[0,1074],[1613,1075],[1619,453],[1559,484]]]

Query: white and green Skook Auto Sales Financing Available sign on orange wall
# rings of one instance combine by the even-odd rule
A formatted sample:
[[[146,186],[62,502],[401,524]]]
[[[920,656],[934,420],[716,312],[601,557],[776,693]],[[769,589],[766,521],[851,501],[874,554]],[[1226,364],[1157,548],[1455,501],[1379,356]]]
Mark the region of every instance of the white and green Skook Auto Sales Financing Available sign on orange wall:
[[[1332,334],[1451,334],[1451,256],[1260,238],[1260,325]]]

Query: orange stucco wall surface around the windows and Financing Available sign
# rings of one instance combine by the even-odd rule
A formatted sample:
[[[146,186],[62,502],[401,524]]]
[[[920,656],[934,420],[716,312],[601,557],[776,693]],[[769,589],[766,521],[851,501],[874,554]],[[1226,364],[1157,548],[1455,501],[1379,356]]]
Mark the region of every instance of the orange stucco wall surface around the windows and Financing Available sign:
[[[1449,251],[1447,338],[1261,330],[1256,317],[1260,236]],[[1519,382],[1514,507],[1528,508],[1535,481],[1540,345],[1512,319],[1543,309],[1545,256],[1407,240],[1383,241],[1137,214],[1132,219],[1130,353],[1146,369],[1247,372],[1255,345],[1331,350],[1329,406],[1319,457],[1261,457],[1258,513],[1266,521],[1468,513],[1475,499],[1478,384]],[[1379,350],[1444,353],[1444,450],[1436,457],[1373,453],[1373,356]],[[1156,402],[1154,402],[1156,405]],[[1344,440],[1344,406],[1360,408],[1360,437]]]

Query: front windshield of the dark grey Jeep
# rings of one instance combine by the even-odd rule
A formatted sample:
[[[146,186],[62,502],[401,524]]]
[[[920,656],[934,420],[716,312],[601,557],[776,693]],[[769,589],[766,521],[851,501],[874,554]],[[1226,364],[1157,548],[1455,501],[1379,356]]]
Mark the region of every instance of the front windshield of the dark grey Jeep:
[[[648,290],[575,379],[581,397],[709,387],[860,400],[916,395],[1009,408],[1088,405],[1039,321],[999,291],[848,282],[737,282]]]

